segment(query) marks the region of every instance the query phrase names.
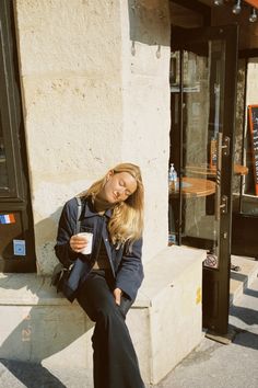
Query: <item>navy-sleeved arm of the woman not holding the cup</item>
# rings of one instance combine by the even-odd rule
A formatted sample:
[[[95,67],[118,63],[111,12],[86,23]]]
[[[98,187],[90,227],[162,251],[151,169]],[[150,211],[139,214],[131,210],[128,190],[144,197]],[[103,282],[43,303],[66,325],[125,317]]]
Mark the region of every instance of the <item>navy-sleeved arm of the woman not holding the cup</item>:
[[[136,299],[144,277],[141,256],[142,239],[133,242],[130,252],[124,252],[116,276],[116,287],[127,294],[131,300]]]

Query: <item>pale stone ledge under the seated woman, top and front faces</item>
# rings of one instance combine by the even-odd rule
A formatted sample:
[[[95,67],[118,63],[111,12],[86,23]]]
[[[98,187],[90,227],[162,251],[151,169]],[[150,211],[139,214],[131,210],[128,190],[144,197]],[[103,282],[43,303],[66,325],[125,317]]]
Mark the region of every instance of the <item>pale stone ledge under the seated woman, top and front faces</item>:
[[[144,265],[127,324],[146,385],[157,384],[202,339],[204,258],[202,250],[173,246]],[[92,387],[94,323],[80,306],[57,295],[49,277],[2,274],[0,287],[0,357],[46,368],[80,367]]]

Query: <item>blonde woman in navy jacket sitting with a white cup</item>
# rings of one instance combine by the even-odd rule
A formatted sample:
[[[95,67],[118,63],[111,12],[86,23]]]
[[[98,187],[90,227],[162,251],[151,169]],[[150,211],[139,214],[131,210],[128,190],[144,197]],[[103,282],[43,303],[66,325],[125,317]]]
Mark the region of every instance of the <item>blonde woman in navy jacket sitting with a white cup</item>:
[[[78,204],[70,199],[59,221],[56,254],[74,263],[63,294],[95,322],[92,336],[95,388],[143,388],[125,318],[143,279],[143,184],[138,166],[121,163],[80,195],[80,230],[93,233],[91,254],[75,232]],[[74,262],[75,261],[75,262]]]

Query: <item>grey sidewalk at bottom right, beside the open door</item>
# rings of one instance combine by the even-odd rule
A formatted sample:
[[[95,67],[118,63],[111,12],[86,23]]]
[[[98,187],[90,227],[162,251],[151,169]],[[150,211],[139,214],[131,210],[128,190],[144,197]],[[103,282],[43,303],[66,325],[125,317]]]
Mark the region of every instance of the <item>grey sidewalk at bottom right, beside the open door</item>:
[[[258,278],[231,307],[230,329],[231,344],[204,338],[155,388],[258,387]]]

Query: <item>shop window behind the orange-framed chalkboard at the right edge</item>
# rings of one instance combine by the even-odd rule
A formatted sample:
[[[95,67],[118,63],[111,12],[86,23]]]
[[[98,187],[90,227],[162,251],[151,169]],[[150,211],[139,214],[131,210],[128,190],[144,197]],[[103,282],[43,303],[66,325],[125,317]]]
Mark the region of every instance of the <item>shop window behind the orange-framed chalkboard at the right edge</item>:
[[[256,164],[258,109],[253,109],[258,105],[258,57],[239,60],[237,81],[234,158],[235,163],[243,164],[245,171],[242,175],[234,176],[232,253],[258,259],[258,169]]]

